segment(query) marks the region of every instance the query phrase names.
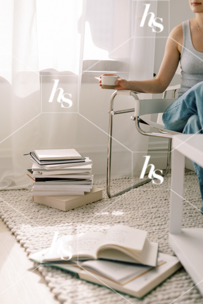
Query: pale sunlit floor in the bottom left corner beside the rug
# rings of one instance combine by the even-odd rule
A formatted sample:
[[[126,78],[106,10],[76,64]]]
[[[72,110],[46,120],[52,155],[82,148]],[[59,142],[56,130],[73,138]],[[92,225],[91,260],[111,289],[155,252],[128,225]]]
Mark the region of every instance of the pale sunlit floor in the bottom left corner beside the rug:
[[[0,303],[58,304],[24,248],[0,219]]]

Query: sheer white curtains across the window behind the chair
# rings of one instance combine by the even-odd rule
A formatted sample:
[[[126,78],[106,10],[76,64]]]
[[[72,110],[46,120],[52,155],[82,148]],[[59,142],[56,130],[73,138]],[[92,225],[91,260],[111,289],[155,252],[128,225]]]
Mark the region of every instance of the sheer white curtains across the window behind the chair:
[[[155,34],[147,22],[140,28],[146,3],[156,13],[156,1],[1,0],[0,189],[31,187],[23,154],[39,148],[75,147],[105,176],[113,91],[95,77],[153,77]],[[118,98],[116,106],[133,101]],[[113,174],[137,174],[148,139],[129,115],[115,120],[113,136]]]

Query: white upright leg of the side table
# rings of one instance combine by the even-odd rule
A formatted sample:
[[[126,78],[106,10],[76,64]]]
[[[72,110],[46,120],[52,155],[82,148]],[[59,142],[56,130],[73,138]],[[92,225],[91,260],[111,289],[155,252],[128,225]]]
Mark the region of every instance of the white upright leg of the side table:
[[[185,157],[176,149],[172,153],[170,233],[181,233]]]

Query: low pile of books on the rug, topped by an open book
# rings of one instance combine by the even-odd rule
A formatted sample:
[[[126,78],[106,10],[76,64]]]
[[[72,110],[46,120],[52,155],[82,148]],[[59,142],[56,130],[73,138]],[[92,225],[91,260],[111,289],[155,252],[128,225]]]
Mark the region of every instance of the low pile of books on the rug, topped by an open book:
[[[114,225],[106,234],[87,232],[56,238],[55,234],[52,247],[29,258],[139,298],[181,268],[176,256],[158,254],[158,243],[149,241],[146,231],[125,225]],[[70,251],[60,250],[63,246]]]

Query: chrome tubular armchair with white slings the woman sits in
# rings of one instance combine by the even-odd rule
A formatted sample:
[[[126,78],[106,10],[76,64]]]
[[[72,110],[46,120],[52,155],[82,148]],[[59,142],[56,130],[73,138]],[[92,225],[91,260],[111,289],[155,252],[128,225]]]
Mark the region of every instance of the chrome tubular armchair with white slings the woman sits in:
[[[176,74],[180,74],[180,66],[178,67]],[[162,113],[166,110],[170,104],[172,104],[176,98],[175,94],[176,91],[180,88],[180,85],[176,86],[171,86],[168,87],[165,92],[163,93],[163,98],[162,99],[144,99],[140,100],[138,97],[139,92],[134,92],[134,91],[128,91],[128,90],[118,90],[113,93],[111,97],[111,103],[110,103],[110,119],[109,119],[109,141],[108,141],[108,159],[107,159],[107,195],[109,198],[113,198],[116,196],[119,196],[127,191],[130,191],[133,188],[137,188],[145,183],[150,182],[152,179],[148,178],[144,181],[141,181],[137,184],[134,184],[128,188],[125,188],[118,193],[111,195],[111,157],[112,157],[112,129],[113,129],[113,116],[122,114],[122,113],[128,113],[128,112],[134,112],[134,116],[131,117],[131,120],[133,120],[136,123],[136,128],[137,130],[147,136],[156,136],[156,137],[163,137],[163,138],[168,138],[168,154],[167,154],[167,166],[166,170],[162,176],[166,175],[170,169],[170,160],[171,160],[171,144],[172,144],[172,138],[173,135],[175,134],[180,134],[179,132],[171,131],[171,130],[166,130],[164,129],[164,125],[162,122]],[[172,98],[171,99],[166,99],[166,92],[167,91],[172,91]],[[119,110],[115,111],[113,109],[114,107],[114,99],[116,95],[128,95],[132,96],[135,99],[135,107],[131,109],[125,109],[125,110]],[[157,123],[154,123],[152,121],[146,120],[145,118],[140,116],[147,115],[147,114],[154,114],[154,113],[159,113],[158,114],[158,119]],[[155,132],[145,132],[141,129],[140,124],[145,124],[150,127],[156,128],[159,130],[160,133],[155,133]]]

